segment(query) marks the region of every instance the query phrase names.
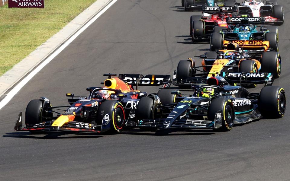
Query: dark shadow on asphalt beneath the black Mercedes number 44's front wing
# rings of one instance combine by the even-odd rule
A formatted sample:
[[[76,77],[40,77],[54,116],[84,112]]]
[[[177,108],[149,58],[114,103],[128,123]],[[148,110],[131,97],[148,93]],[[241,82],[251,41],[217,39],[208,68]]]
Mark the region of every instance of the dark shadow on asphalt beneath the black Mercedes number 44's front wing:
[[[213,135],[216,132],[219,132],[218,130],[184,130],[184,129],[172,129],[172,130],[157,130],[157,131],[143,131],[140,129],[128,129],[125,131],[122,131],[121,134],[125,135],[149,135],[149,136],[182,136],[182,135]]]

